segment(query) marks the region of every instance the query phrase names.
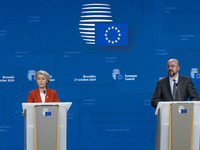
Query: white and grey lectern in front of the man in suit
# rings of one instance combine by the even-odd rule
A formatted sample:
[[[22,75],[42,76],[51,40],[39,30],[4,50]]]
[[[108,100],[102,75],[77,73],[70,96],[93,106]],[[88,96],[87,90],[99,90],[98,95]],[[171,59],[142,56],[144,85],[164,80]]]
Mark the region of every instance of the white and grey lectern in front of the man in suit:
[[[199,150],[200,102],[159,102],[156,150]]]

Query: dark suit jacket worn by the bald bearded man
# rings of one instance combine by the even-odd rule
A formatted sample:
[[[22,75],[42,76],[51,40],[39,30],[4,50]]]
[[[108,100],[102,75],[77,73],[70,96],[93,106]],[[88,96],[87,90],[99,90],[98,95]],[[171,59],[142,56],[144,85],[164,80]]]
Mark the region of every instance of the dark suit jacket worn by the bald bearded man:
[[[176,101],[187,101],[188,97],[191,101],[198,101],[199,97],[194,88],[191,78],[179,75]],[[157,107],[159,101],[174,101],[172,98],[169,76],[157,82],[156,90],[151,99],[151,106]]]

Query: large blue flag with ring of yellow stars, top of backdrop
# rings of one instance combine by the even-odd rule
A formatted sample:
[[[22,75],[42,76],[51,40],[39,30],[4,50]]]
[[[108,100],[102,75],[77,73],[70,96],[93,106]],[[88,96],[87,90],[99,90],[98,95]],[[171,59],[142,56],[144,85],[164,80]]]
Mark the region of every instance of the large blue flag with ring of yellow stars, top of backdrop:
[[[96,24],[97,46],[128,46],[128,24]]]

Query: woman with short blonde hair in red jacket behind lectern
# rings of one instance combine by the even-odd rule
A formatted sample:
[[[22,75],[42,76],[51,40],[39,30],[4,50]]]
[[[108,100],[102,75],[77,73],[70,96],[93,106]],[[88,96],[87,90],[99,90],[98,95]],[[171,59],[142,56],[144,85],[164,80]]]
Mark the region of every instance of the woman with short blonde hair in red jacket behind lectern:
[[[38,88],[31,91],[28,96],[28,103],[52,103],[60,102],[57,92],[47,88],[49,84],[49,74],[40,70],[35,74],[35,81]]]

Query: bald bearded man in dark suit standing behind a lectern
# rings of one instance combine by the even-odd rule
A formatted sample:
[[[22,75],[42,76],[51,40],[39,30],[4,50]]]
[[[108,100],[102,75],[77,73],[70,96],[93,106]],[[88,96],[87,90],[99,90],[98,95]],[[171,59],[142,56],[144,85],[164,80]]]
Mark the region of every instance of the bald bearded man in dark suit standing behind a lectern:
[[[198,101],[199,97],[191,78],[178,73],[180,67],[176,59],[167,62],[167,77],[159,80],[151,100],[151,106],[157,107],[161,101]]]

